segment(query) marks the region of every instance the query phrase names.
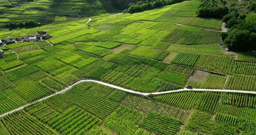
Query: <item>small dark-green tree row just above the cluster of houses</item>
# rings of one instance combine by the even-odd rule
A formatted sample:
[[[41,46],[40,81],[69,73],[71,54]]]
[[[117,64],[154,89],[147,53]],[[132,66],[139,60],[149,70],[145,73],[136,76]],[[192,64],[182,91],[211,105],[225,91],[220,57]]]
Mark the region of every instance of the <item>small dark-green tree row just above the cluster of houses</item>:
[[[41,23],[37,23],[35,21],[28,21],[28,22],[25,22],[25,23],[15,23],[15,22],[9,22],[8,24],[6,24],[6,27],[7,28],[30,28],[30,27],[36,27],[36,26],[40,26]]]

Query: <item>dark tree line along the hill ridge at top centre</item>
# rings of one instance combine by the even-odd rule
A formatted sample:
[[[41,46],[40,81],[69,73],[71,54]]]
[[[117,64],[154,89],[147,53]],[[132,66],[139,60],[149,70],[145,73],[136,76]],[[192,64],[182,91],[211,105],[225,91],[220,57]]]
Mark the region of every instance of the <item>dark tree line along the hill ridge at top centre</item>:
[[[124,12],[128,12],[128,13],[142,12],[145,10],[160,8],[165,5],[179,3],[181,1],[184,1],[184,0],[154,0],[151,2],[139,1],[136,4],[130,4],[127,9],[124,9]]]

